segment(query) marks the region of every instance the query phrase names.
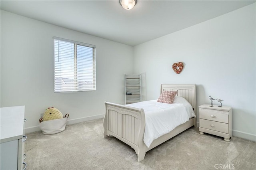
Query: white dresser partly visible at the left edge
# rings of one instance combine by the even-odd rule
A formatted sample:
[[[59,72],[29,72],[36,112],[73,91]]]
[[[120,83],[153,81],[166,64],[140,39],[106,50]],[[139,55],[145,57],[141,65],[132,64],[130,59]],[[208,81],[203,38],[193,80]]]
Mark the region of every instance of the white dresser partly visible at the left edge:
[[[25,106],[2,107],[0,111],[0,169],[26,169],[24,142],[24,111]]]

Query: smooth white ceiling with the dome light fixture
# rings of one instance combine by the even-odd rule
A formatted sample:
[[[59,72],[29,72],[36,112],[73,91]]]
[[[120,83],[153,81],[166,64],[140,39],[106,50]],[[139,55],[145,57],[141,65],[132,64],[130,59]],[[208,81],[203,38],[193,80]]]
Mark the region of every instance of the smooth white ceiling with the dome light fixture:
[[[1,10],[127,45],[138,45],[210,20],[255,0],[1,0]]]

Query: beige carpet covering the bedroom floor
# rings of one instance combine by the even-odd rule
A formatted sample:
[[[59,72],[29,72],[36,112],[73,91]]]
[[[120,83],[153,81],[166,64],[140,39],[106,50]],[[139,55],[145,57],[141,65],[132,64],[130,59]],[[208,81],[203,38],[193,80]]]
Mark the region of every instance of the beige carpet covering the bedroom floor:
[[[103,138],[103,119],[66,126],[58,134],[26,134],[27,170],[256,170],[256,143],[233,137],[230,142],[190,128],[146,152],[135,151],[114,137]]]

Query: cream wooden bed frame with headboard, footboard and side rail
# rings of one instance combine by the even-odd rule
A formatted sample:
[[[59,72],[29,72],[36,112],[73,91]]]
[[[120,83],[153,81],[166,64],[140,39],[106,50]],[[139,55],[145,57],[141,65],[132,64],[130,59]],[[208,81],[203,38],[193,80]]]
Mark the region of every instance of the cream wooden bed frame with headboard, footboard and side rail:
[[[184,97],[193,107],[197,115],[196,84],[162,84],[162,91],[178,91],[177,95]],[[162,144],[184,130],[196,127],[196,118],[174,128],[168,134],[160,136],[148,148],[143,142],[145,131],[145,113],[143,109],[105,102],[106,115],[103,121],[104,138],[114,136],[131,146],[138,155],[138,162],[144,160],[148,150]]]

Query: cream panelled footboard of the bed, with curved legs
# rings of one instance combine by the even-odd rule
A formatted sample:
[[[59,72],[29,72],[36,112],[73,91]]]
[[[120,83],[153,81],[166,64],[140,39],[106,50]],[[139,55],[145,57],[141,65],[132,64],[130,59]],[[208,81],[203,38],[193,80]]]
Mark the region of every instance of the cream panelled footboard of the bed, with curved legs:
[[[140,162],[146,154],[144,110],[109,102],[105,102],[105,106],[104,138],[112,135],[125,142],[135,150]]]

